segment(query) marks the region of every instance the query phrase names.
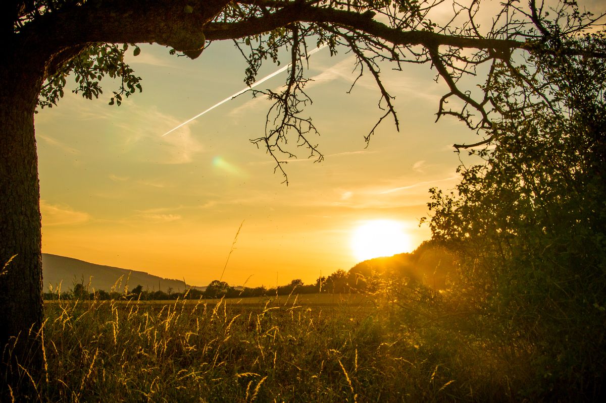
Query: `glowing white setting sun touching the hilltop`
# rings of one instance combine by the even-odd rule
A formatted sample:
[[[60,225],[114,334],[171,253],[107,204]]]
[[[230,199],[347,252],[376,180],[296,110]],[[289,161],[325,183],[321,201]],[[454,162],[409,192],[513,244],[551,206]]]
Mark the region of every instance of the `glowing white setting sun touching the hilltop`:
[[[398,221],[365,221],[353,232],[351,249],[359,261],[391,256],[410,251],[410,237]]]

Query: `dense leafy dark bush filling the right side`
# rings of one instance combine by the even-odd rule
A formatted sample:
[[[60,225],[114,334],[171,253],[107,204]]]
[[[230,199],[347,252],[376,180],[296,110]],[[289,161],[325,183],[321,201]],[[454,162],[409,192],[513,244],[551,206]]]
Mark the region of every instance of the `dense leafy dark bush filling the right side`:
[[[525,368],[519,398],[596,401],[606,389],[606,61],[564,49],[606,38],[571,42],[542,23],[553,39],[528,70],[509,77],[495,65],[502,119],[473,151],[483,163],[459,167],[455,191],[431,190],[430,228],[459,260],[446,294],[459,321]]]

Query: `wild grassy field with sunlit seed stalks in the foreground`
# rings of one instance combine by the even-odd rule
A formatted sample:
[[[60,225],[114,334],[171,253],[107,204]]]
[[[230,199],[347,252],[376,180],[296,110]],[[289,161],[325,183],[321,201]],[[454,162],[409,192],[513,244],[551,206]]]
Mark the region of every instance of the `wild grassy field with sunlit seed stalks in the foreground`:
[[[44,402],[514,401],[484,346],[361,295],[45,306]]]

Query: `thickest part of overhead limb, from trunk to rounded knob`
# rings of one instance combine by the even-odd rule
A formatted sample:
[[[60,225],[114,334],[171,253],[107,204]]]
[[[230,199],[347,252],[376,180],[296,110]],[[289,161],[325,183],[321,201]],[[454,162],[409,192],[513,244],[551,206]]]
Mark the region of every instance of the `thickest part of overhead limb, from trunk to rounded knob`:
[[[45,13],[18,33],[16,47],[48,61],[67,48],[95,43],[157,43],[191,53],[205,44],[204,26],[229,0],[91,0]],[[39,38],[45,41],[39,41]]]

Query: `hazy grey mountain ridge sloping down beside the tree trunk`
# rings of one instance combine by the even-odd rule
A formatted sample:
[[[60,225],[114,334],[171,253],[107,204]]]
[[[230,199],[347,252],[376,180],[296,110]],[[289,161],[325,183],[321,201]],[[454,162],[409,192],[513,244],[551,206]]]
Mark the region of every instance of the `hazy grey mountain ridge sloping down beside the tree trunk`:
[[[132,290],[139,284],[143,286],[144,290],[162,290],[164,292],[169,288],[175,292],[182,292],[188,288],[185,281],[182,280],[171,280],[138,270],[103,266],[59,255],[42,254],[42,290],[44,292],[48,291],[50,285],[56,289],[61,284],[61,290],[68,291],[73,289],[76,283],[87,285],[89,281],[90,290],[110,291],[114,288],[117,292],[123,292],[125,287]]]

